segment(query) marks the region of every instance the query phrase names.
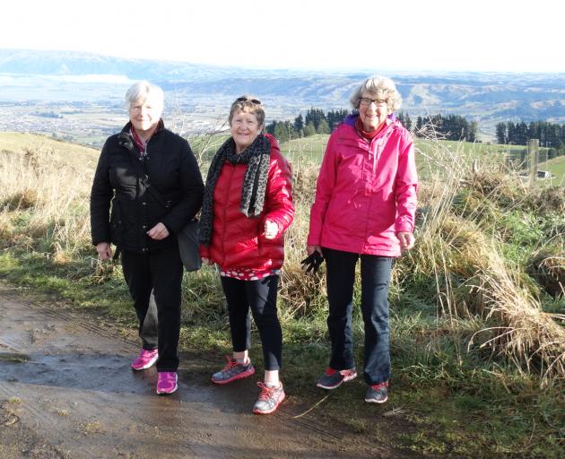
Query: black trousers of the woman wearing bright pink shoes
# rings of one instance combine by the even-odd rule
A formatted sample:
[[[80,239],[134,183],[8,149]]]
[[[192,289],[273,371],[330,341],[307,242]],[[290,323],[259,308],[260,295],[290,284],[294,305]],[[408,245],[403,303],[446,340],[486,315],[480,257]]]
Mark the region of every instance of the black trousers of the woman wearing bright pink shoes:
[[[177,371],[183,274],[178,247],[146,254],[123,250],[122,269],[134,299],[143,349],[159,350],[157,371]]]

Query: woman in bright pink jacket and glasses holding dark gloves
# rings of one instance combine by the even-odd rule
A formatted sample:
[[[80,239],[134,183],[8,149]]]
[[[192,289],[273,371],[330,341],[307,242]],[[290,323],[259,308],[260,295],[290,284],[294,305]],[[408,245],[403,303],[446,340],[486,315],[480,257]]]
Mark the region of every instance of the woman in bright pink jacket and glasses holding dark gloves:
[[[330,136],[310,213],[307,251],[326,259],[329,367],[317,386],[357,376],[352,346],[355,265],[361,258],[365,402],[385,403],[390,377],[388,283],[392,259],[414,245],[418,179],[413,140],[395,119],[401,97],[388,78],[353,92],[355,111]]]

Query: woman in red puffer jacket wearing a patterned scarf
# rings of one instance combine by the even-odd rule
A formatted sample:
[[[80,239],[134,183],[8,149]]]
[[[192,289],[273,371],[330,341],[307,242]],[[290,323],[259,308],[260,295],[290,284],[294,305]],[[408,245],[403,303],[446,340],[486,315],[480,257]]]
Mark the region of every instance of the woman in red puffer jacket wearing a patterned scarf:
[[[265,380],[253,412],[273,412],[284,399],[279,369],[282,330],[276,294],[284,259],[284,231],[294,205],[291,169],[276,139],[260,134],[265,111],[260,100],[238,98],[230,108],[231,137],[216,152],[206,179],[201,217],[204,263],[220,267],[230,316],[232,357],[213,374],[224,385],[250,377],[249,307],[263,344]]]

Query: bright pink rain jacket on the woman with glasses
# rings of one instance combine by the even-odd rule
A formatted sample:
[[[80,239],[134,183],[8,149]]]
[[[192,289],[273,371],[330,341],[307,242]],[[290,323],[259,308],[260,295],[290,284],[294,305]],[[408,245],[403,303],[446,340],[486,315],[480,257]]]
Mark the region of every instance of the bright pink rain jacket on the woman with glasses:
[[[418,178],[412,136],[391,123],[372,140],[357,116],[330,135],[310,212],[308,244],[356,254],[400,256],[399,231],[413,232]]]

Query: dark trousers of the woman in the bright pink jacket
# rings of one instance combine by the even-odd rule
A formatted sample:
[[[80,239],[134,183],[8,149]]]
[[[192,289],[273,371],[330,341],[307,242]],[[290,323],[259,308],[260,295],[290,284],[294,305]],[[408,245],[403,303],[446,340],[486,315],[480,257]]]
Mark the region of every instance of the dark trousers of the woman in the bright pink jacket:
[[[364,377],[369,385],[390,377],[388,282],[392,258],[359,255],[323,247],[326,258],[327,328],[332,342],[330,368],[355,367],[352,307],[355,264],[361,256],[361,314],[365,324]]]

